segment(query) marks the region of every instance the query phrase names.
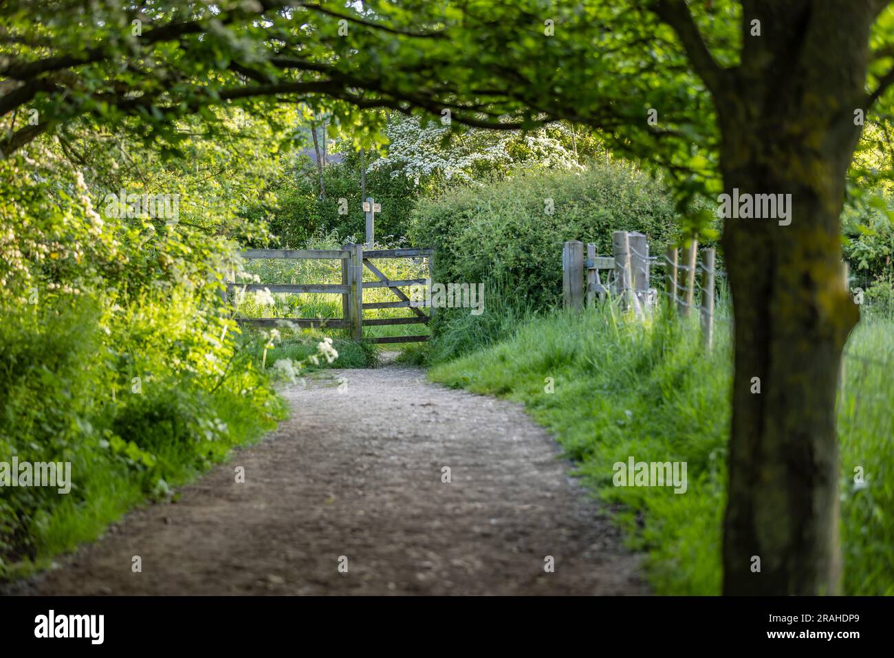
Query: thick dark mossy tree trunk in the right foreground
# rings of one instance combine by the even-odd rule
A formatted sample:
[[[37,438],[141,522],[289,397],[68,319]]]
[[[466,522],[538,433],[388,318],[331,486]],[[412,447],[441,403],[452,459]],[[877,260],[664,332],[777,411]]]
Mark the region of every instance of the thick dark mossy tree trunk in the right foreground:
[[[746,41],[741,68],[715,95],[721,173],[730,196],[790,195],[790,224],[724,223],[735,358],[723,592],[835,594],[835,399],[859,316],[841,277],[839,215],[872,17],[762,6],[763,36]]]

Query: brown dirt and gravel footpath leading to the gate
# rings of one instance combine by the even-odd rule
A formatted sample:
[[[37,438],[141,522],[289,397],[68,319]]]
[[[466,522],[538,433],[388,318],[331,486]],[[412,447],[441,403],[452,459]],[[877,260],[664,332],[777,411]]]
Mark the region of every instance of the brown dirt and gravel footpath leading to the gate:
[[[291,418],[265,441],[183,487],[179,502],[129,514],[20,591],[645,593],[637,557],[518,405],[394,365],[330,371],[284,395]]]

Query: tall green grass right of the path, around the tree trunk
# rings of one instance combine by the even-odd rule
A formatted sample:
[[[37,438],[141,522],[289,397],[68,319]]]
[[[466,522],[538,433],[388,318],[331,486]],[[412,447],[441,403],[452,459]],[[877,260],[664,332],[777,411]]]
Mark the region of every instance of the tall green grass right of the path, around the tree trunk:
[[[630,547],[646,553],[655,591],[716,595],[730,426],[729,326],[717,325],[714,349],[705,354],[695,318],[685,325],[664,316],[641,323],[610,305],[554,313],[530,317],[502,341],[443,362],[429,376],[523,402],[555,434],[576,474],[617,506],[614,518]],[[894,509],[894,383],[882,365],[894,359],[892,330],[890,321],[869,321],[848,342],[839,403],[848,594],[894,594],[894,520],[887,513]],[[612,465],[630,456],[687,462],[687,492],[614,486]],[[854,483],[857,465],[864,485]]]

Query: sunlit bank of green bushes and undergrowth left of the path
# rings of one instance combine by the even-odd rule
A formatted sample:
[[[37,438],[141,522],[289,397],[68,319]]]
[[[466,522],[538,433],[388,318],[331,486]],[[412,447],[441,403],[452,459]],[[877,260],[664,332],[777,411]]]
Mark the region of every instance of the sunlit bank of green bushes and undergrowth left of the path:
[[[36,160],[37,162],[37,160]],[[46,565],[282,418],[220,314],[220,238],[101,217],[80,175],[0,162],[0,461],[71,462],[71,491],[0,487],[0,577]]]

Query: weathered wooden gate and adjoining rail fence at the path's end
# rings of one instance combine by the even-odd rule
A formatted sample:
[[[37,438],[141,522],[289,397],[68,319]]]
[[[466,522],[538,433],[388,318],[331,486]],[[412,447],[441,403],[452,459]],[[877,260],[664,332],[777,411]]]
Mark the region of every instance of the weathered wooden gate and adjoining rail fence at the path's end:
[[[427,325],[434,315],[429,308],[426,315],[416,304],[411,304],[409,296],[401,291],[411,285],[431,282],[434,266],[434,249],[363,249],[362,244],[349,242],[342,249],[248,249],[240,252],[243,258],[291,258],[300,259],[340,259],[342,261],[342,283],[227,283],[227,290],[329,293],[342,295],[342,317],[239,317],[242,325],[276,326],[293,325],[299,327],[329,327],[350,329],[351,338],[363,339],[363,327],[375,325]],[[379,258],[426,257],[427,279],[389,279],[372,262]],[[363,281],[363,268],[375,274],[377,281]],[[363,291],[367,288],[388,288],[397,298],[395,301],[363,302]],[[424,301],[419,302],[424,304]],[[383,317],[364,319],[363,311],[373,308],[409,308],[409,317]],[[367,339],[370,342],[424,342],[428,336],[383,336]]]

